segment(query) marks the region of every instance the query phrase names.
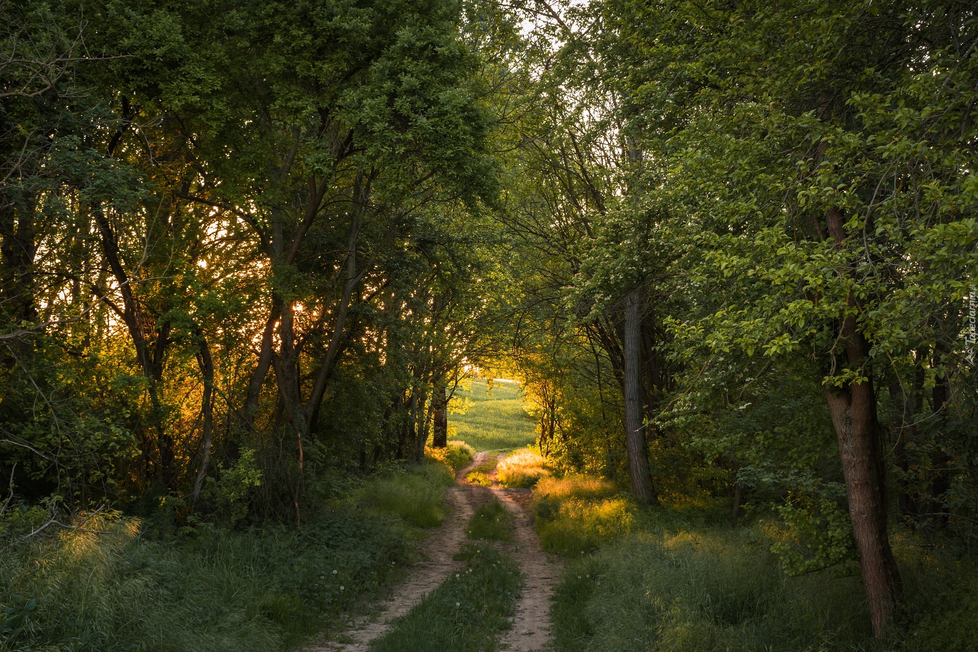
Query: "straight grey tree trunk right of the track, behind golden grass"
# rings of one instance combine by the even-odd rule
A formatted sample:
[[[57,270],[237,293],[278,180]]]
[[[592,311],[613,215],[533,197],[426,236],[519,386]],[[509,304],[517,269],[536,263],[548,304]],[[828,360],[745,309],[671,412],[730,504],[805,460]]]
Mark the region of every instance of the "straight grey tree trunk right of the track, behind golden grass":
[[[625,299],[624,390],[625,390],[625,449],[628,452],[628,470],[632,478],[632,492],[642,503],[657,502],[652,475],[648,469],[645,446],[645,424],[642,406],[642,317],[639,290],[633,290]]]

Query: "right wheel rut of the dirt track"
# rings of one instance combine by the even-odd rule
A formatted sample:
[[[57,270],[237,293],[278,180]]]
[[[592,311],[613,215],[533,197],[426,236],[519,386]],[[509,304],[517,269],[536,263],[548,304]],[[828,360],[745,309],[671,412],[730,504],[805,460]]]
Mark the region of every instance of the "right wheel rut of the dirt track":
[[[559,582],[561,566],[556,557],[543,551],[533,530],[529,509],[530,490],[505,489],[496,484],[495,473],[490,478],[493,481],[493,494],[514,516],[512,555],[526,579],[516,603],[512,629],[503,636],[500,647],[511,652],[535,652],[542,650],[550,640],[551,597]]]

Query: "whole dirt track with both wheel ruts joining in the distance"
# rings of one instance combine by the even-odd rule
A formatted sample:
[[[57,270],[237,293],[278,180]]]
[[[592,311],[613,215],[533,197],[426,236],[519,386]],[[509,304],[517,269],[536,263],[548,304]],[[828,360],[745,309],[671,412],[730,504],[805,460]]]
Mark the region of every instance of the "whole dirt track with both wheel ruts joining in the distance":
[[[501,648],[511,652],[531,652],[543,649],[549,640],[551,595],[558,581],[560,567],[548,558],[540,548],[529,517],[527,489],[504,489],[496,483],[495,473],[491,489],[477,487],[465,478],[473,467],[485,462],[488,453],[477,453],[472,463],[456,474],[456,485],[445,493],[445,500],[452,506],[452,514],[442,525],[431,532],[425,548],[429,559],[415,564],[407,581],[394,588],[393,594],[381,603],[381,612],[374,617],[361,617],[353,628],[335,636],[337,641],[317,643],[304,648],[306,652],[366,652],[370,642],[390,629],[394,619],[407,614],[421,602],[424,595],[444,582],[459,562],[452,559],[459,546],[466,540],[466,525],[475,507],[495,494],[514,516],[513,543],[505,551],[511,554],[523,572],[526,585],[516,604],[512,629],[501,643]],[[343,642],[339,642],[343,641]]]

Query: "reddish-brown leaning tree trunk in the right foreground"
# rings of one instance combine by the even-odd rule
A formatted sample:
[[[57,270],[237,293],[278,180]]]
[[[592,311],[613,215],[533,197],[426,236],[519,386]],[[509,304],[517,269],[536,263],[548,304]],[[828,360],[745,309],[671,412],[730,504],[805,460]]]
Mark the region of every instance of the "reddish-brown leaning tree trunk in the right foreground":
[[[868,346],[857,329],[855,316],[843,321],[841,339],[850,368],[867,372]],[[829,390],[826,399],[839,440],[849,516],[860,553],[872,630],[879,638],[899,615],[903,585],[886,530],[886,467],[872,380]]]

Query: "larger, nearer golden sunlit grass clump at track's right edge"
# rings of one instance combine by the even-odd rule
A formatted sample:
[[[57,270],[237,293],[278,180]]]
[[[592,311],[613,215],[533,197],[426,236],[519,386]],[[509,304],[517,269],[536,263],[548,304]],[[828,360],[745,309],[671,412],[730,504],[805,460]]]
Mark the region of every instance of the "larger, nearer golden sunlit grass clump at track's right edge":
[[[632,531],[637,508],[617,489],[594,476],[545,478],[534,492],[537,531],[544,548],[585,554]]]

